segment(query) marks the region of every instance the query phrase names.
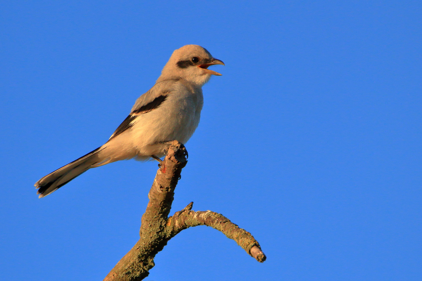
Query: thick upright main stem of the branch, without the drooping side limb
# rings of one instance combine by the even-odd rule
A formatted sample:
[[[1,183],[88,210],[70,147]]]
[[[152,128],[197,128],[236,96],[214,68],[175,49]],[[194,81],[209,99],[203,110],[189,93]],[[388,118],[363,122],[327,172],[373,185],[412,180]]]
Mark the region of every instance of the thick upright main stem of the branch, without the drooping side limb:
[[[160,169],[157,171],[151,190],[149,203],[142,216],[139,241],[108,273],[104,281],[135,281],[149,275],[154,267],[154,257],[167,245],[168,238],[164,228],[174,198],[174,188],[180,177],[181,169],[186,165],[186,149],[174,141]]]

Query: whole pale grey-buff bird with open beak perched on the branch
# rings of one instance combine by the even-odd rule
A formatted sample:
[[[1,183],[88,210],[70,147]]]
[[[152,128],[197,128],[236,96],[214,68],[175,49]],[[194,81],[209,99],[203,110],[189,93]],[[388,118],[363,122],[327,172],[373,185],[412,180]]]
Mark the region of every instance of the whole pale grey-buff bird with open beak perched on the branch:
[[[88,169],[131,158],[161,161],[171,141],[186,143],[199,123],[202,86],[211,75],[221,75],[208,69],[213,64],[224,65],[201,46],[185,45],[174,51],[155,85],[136,100],[104,145],[35,183],[39,198]]]

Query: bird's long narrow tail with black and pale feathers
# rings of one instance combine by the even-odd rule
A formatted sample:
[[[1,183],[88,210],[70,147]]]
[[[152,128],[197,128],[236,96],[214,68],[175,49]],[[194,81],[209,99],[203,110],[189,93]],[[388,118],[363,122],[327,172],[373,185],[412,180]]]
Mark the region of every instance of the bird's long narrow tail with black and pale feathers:
[[[101,166],[103,163],[99,164],[99,162],[102,161],[98,157],[98,153],[101,150],[101,147],[98,147],[96,150],[92,150],[90,153],[82,156],[81,158],[70,162],[45,177],[42,177],[35,183],[35,188],[38,188],[37,194],[40,195],[39,198],[49,195],[88,169]]]

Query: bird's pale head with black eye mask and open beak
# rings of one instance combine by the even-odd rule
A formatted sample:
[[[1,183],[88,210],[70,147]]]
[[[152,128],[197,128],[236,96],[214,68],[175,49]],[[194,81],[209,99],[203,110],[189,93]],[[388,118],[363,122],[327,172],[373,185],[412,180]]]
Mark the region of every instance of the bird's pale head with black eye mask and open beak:
[[[198,45],[185,45],[173,52],[162,69],[159,80],[182,78],[197,86],[203,86],[211,78],[211,75],[221,75],[208,69],[210,65],[214,64],[224,65],[224,62],[211,56],[206,48]]]

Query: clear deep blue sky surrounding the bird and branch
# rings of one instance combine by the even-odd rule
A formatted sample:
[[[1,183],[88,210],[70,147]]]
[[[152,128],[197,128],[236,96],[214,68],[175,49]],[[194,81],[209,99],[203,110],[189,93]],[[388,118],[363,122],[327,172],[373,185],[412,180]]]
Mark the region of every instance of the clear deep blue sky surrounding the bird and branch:
[[[239,2],[0,3],[3,280],[102,280],[135,244],[157,163],[33,184],[102,145],[186,44],[226,66],[172,213],[222,213],[268,259],[194,227],[145,280],[420,278],[421,3]]]

